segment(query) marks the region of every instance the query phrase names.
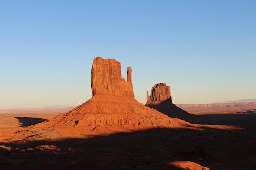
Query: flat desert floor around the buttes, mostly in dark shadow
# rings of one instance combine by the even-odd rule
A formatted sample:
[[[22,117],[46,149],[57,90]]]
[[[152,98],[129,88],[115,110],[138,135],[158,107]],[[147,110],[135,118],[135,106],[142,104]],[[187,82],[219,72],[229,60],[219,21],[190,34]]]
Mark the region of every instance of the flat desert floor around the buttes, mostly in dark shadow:
[[[0,140],[0,169],[182,169],[167,163],[186,160],[210,169],[256,169],[256,113],[246,108],[207,109],[187,109],[197,114],[187,121],[241,129],[156,128],[58,141]],[[1,110],[0,133],[68,110]]]

